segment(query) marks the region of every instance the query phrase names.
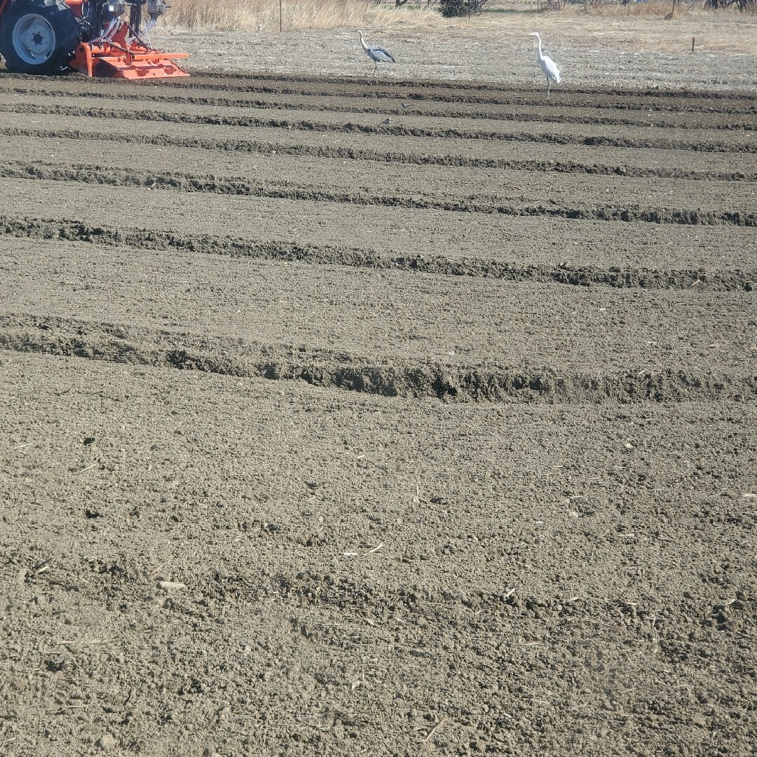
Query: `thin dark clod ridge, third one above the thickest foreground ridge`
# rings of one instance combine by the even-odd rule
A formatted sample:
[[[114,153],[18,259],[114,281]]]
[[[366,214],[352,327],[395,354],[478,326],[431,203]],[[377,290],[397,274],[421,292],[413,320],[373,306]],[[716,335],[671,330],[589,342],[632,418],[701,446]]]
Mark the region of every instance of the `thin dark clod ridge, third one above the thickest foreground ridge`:
[[[409,165],[435,165],[466,168],[496,168],[544,173],[587,173],[594,176],[629,176],[656,179],[691,179],[693,181],[746,181],[757,182],[757,173],[721,170],[687,170],[674,167],[629,166],[580,163],[574,160],[519,160],[517,158],[469,157],[457,154],[415,154],[409,152],[380,151],[364,148],[344,148],[329,145],[291,145],[251,139],[207,139],[198,136],[167,136],[127,134],[124,132],[92,132],[81,129],[36,129],[17,126],[0,127],[0,134],[9,137],[33,139],[82,139],[96,142],[116,142],[125,145],[155,145],[220,152],[323,157],[341,160],[374,160],[380,163]],[[608,156],[609,157],[609,156]]]

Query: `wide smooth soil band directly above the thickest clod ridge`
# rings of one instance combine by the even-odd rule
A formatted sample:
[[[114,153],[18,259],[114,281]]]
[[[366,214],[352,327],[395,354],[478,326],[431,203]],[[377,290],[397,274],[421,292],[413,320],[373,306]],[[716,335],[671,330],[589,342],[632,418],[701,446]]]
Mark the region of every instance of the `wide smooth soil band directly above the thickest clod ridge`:
[[[746,291],[506,282],[418,271],[0,238],[0,301],[179,341],[241,338],[369,363],[627,368],[740,375],[754,364]],[[233,352],[230,354],[234,354]]]

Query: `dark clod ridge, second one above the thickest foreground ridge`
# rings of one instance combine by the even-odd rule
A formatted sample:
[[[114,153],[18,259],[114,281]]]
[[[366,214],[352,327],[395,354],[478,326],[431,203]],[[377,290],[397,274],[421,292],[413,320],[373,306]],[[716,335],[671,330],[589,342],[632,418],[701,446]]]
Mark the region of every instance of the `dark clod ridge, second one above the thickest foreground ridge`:
[[[143,186],[148,188],[175,189],[178,192],[204,192],[214,195],[242,197],[287,198],[294,200],[337,202],[358,205],[382,205],[416,210],[453,210],[465,213],[501,213],[508,216],[544,216],[581,220],[627,221],[644,223],[671,223],[683,225],[757,226],[757,212],[741,210],[700,210],[659,207],[615,205],[591,207],[560,207],[557,204],[516,205],[491,203],[486,198],[428,197],[416,195],[390,195],[383,192],[338,192],[314,185],[283,185],[251,182],[245,178],[195,176],[179,172],[145,172],[125,168],[67,165],[64,167],[44,164],[41,161],[29,164],[26,161],[0,164],[0,177],[6,179],[42,179],[57,182],[78,182],[111,186]]]

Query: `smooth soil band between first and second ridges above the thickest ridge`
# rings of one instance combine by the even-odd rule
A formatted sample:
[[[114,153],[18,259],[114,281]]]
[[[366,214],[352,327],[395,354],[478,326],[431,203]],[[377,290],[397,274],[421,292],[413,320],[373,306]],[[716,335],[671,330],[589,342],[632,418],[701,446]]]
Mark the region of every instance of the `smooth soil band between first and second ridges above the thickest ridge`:
[[[473,217],[447,210],[382,206],[373,206],[366,213],[360,205],[256,197],[226,197],[220,204],[217,195],[200,192],[182,195],[177,204],[172,190],[155,189],[145,195],[142,187],[92,184],[78,185],[76,192],[61,192],[61,186],[65,185],[0,179],[5,216],[11,221],[47,220],[52,233],[71,221],[124,232],[145,229],[299,248],[349,247],[408,260],[431,260],[439,255],[450,260],[494,260],[521,269],[535,265],[545,269],[695,270],[709,279],[721,272],[751,273],[757,259],[757,227]],[[145,197],[150,202],[145,203]],[[114,207],[120,208],[117,218]],[[166,207],[171,208],[170,213]],[[208,219],[213,219],[210,228]],[[472,223],[475,219],[478,223]],[[12,247],[12,240],[5,245]]]

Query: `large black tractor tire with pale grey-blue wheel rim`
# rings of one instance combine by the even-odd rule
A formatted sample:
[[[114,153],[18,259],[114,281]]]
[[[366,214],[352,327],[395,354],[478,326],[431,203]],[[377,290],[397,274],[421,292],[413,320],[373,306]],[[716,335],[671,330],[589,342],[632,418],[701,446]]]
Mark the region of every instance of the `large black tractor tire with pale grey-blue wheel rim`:
[[[0,55],[14,73],[61,73],[81,39],[81,24],[60,0],[16,0],[0,20]]]

